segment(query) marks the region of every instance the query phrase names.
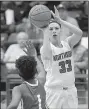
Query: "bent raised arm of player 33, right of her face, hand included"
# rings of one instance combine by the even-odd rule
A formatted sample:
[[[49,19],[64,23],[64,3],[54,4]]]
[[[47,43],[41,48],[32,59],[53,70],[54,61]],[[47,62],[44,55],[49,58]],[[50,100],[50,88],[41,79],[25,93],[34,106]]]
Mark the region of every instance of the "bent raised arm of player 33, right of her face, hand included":
[[[68,40],[68,43],[71,47],[73,47],[74,45],[76,45],[79,40],[81,39],[82,37],[82,30],[80,28],[78,28],[77,26],[69,23],[69,22],[66,22],[64,20],[62,20],[59,16],[59,13],[58,13],[58,10],[56,9],[56,7],[54,6],[54,9],[55,9],[55,14],[52,12],[52,15],[54,16],[54,18],[59,22],[61,23],[61,25],[64,25],[65,27],[69,28],[69,30],[73,33],[72,36],[69,36],[67,38]]]

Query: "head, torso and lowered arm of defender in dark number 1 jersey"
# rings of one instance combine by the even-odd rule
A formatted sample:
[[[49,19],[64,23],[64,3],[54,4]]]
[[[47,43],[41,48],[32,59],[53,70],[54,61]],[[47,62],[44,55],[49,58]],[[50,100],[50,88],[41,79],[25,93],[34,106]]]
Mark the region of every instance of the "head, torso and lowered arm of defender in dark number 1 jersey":
[[[24,82],[13,88],[12,101],[7,109],[17,109],[21,100],[23,109],[46,109],[46,94],[44,87],[36,79],[36,66],[37,62],[33,56],[22,56],[16,60],[16,67]]]

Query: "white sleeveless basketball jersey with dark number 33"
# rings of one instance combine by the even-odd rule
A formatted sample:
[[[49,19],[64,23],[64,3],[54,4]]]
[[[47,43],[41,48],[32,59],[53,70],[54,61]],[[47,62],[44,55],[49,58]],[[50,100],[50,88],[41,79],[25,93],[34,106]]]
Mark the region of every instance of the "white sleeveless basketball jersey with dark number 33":
[[[67,42],[62,41],[61,43],[62,48],[57,48],[51,44],[52,60],[45,60],[43,54],[41,55],[47,72],[45,86],[49,88],[70,87],[75,82],[74,60],[71,48]]]

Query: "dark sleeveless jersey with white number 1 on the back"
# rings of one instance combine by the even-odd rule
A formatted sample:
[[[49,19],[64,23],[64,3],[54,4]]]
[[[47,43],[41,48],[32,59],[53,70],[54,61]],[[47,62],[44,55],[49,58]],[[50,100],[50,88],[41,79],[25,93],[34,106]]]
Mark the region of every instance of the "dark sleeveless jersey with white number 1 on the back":
[[[23,109],[45,109],[46,94],[43,86],[23,82],[20,86]]]

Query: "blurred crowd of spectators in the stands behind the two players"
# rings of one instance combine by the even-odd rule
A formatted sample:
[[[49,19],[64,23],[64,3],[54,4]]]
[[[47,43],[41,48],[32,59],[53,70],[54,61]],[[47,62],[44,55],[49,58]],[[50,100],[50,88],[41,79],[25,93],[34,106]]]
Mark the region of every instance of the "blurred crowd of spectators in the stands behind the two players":
[[[60,17],[78,26],[83,31],[81,41],[74,47],[75,73],[86,73],[88,69],[88,1],[2,1],[1,2],[1,80],[5,80],[6,73],[14,71],[13,61],[23,55],[21,41],[31,39],[40,57],[42,32],[34,27],[29,20],[29,11],[36,4],[44,4],[54,11],[55,5]],[[62,40],[69,36],[66,28],[63,29]],[[18,46],[20,45],[20,46]],[[18,56],[19,55],[19,56]],[[8,71],[7,71],[8,69]],[[86,80],[78,80],[86,81]],[[86,87],[86,86],[84,86]]]

